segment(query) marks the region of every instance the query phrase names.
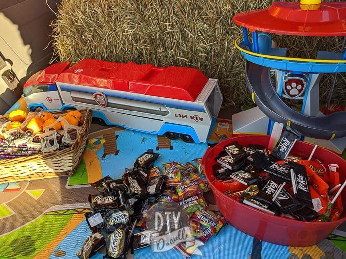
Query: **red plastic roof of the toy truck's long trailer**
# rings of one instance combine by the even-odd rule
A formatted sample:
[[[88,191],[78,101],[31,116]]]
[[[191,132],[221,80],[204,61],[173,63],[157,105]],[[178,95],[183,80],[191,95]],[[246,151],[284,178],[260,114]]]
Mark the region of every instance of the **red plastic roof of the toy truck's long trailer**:
[[[193,68],[83,59],[62,72],[56,81],[194,101],[208,78]]]

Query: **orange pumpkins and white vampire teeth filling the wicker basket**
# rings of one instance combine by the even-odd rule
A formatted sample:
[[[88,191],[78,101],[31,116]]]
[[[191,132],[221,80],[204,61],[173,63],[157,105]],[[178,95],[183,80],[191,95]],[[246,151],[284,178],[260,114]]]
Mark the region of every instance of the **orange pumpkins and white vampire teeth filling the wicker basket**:
[[[11,111],[0,120],[0,159],[42,154],[70,147],[84,118],[79,111],[57,117],[47,111]]]

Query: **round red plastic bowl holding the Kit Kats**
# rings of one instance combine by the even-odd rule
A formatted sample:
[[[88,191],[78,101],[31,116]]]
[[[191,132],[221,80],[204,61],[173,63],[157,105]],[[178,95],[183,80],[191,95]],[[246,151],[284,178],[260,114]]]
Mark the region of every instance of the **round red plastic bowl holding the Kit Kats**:
[[[217,190],[212,184],[212,166],[217,162],[215,157],[223,148],[233,142],[238,141],[240,145],[259,144],[267,146],[269,136],[266,135],[246,135],[228,139],[217,144],[214,148],[209,148],[204,154],[201,164],[204,167],[204,173],[212,188],[216,204],[220,212],[226,217],[228,222],[240,231],[253,236],[259,240],[285,245],[285,246],[310,246],[324,240],[335,228],[345,222],[345,216],[332,222],[303,222],[269,215],[256,210],[250,206],[235,201],[222,192]],[[297,141],[290,154],[309,157],[313,145],[302,141]],[[339,155],[318,147],[314,154],[315,158],[327,163],[339,165],[340,182],[343,183],[346,178],[346,161]],[[341,193],[343,204],[346,204],[346,191]]]

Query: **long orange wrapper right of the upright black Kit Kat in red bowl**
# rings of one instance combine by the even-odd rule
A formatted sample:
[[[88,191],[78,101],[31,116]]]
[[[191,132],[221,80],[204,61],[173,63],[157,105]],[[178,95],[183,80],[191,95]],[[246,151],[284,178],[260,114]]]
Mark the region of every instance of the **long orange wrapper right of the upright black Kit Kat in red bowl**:
[[[305,166],[306,175],[309,180],[309,184],[323,197],[326,197],[328,194],[328,184],[316,173],[319,171],[315,161],[301,160],[297,164]],[[321,168],[320,168],[321,169]],[[322,170],[322,169],[321,169]],[[322,171],[319,171],[321,175],[324,175]],[[328,177],[329,178],[329,177]],[[326,179],[326,178],[325,178]],[[329,179],[328,179],[329,180]]]

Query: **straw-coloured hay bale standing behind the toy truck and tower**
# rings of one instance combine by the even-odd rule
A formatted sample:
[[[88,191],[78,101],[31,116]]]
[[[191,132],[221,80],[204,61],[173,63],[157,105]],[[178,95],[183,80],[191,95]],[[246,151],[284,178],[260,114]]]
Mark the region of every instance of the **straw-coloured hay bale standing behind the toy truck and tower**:
[[[245,61],[234,47],[241,30],[232,17],[242,11],[267,8],[272,2],[62,0],[57,19],[52,22],[51,37],[55,54],[62,62],[96,58],[199,68],[208,77],[219,79],[225,105],[250,104]],[[295,37],[275,39],[279,45],[298,43],[300,49],[290,49],[294,55],[301,50],[316,53],[321,42],[307,37],[300,37],[299,41]],[[341,39],[322,42],[323,50],[335,50],[340,48]],[[330,83],[322,87],[322,101],[329,87]],[[339,82],[335,96],[345,100],[346,93]]]

